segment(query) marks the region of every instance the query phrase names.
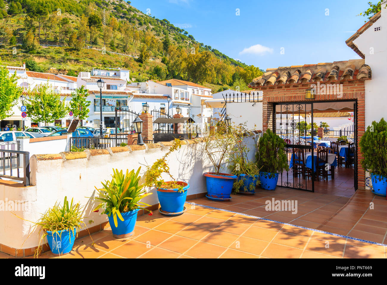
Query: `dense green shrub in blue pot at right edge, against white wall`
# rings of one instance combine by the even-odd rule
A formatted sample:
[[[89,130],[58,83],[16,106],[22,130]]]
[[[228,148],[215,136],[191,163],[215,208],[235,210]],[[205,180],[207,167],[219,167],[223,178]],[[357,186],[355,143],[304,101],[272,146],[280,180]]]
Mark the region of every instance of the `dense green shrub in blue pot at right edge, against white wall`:
[[[373,193],[386,196],[387,188],[387,123],[373,121],[360,139],[361,164],[371,174]]]

